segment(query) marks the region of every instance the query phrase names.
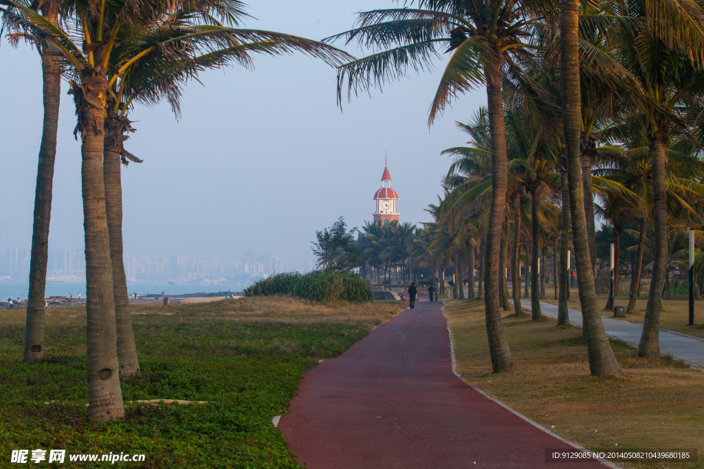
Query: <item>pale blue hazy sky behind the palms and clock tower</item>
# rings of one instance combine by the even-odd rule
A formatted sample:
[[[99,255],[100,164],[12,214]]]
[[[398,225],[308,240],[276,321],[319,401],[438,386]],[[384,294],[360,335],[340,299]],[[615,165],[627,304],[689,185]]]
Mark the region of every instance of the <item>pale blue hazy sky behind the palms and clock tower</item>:
[[[252,0],[245,27],[322,39],[353,26],[354,13],[389,0]],[[359,55],[356,49],[348,49]],[[0,46],[0,249],[30,245],[37,152],[42,131],[42,75],[30,46]],[[336,106],[336,70],[296,55],[256,58],[253,72],[227,68],[184,90],[176,122],[167,104],[137,108],[125,147],[144,159],[122,170],[125,251],[238,259],[271,252],[310,259],[315,231],[344,216],[372,219],[384,149],[401,221],[429,221],[449,159],[444,148],[467,140],[455,120],[486,102],[467,94],[428,129],[427,111],[445,60]],[[64,84],[64,91],[67,88]],[[80,143],[75,108],[61,96],[50,244],[82,248]]]

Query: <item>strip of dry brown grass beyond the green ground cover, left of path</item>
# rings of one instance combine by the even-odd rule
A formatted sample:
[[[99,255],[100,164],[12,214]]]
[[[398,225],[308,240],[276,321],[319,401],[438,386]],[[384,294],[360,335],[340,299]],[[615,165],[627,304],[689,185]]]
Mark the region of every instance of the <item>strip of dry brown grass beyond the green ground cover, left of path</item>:
[[[276,321],[285,323],[346,322],[358,323],[371,330],[388,321],[404,309],[403,302],[324,304],[294,297],[241,297],[218,302],[174,304],[168,307],[131,305],[134,321],[154,323],[163,316],[182,316],[189,319],[231,320],[241,322]],[[24,309],[0,312],[0,326],[25,322]],[[84,308],[49,308],[46,323],[50,326],[85,323]]]

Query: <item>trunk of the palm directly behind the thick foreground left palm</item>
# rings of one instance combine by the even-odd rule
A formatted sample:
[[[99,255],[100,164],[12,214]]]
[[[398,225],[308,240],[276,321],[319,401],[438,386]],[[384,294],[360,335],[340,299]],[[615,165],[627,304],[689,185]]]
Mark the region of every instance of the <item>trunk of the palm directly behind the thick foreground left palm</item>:
[[[122,261],[122,177],[120,174],[120,146],[108,145],[106,138],[103,156],[103,178],[105,180],[105,208],[110,231],[110,259],[113,269],[113,295],[115,297],[115,325],[117,328],[118,361],[120,379],[139,375],[137,345],[130,318],[130,299],[127,297],[127,278]],[[122,134],[117,137],[123,138]],[[117,151],[115,148],[117,147]]]

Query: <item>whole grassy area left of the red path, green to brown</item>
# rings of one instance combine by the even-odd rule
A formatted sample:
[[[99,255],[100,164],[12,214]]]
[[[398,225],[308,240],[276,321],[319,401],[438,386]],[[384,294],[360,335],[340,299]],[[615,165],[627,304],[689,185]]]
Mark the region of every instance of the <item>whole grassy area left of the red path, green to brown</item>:
[[[32,364],[22,363],[25,311],[3,311],[0,467],[10,465],[12,449],[144,453],[139,467],[149,468],[298,467],[272,416],[286,411],[318,360],[341,354],[403,307],[289,297],[133,307],[142,376],[122,383],[123,399],[208,403],[129,405],[124,420],[110,423],[87,418],[84,309],[49,310],[46,359]]]

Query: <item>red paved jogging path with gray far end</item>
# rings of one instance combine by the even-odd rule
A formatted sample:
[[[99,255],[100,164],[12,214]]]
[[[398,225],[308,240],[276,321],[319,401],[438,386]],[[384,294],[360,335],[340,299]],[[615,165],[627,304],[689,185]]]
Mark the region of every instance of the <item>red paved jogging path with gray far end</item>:
[[[421,301],[306,373],[278,428],[308,468],[593,468],[452,371],[441,303]],[[474,465],[476,463],[476,466]]]

